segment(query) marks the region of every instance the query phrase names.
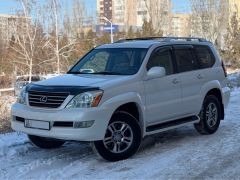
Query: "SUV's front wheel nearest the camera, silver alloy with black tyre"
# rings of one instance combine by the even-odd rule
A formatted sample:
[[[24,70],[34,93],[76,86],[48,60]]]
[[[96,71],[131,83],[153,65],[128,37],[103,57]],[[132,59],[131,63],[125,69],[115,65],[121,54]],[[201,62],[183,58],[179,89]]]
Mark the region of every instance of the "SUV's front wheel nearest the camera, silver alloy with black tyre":
[[[105,160],[119,161],[134,155],[141,139],[141,128],[136,118],[119,111],[112,116],[104,139],[93,142],[93,148]]]

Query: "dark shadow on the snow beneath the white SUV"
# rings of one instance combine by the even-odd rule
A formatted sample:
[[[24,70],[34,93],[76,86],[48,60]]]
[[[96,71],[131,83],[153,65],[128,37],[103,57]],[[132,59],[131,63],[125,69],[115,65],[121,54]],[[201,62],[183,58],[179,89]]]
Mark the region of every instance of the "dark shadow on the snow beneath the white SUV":
[[[199,137],[201,137],[201,135],[198,134],[192,126],[157,133],[147,136],[142,140],[137,154],[151,153],[153,150],[155,151],[156,148],[158,148],[158,152],[168,151],[171,147],[174,148],[180,146],[183,144],[183,141],[187,142],[190,139]],[[71,162],[92,156],[92,158],[97,159],[100,162],[106,162],[99,158],[99,156],[95,155],[91,148],[91,144],[88,142],[67,141],[61,148],[49,150],[37,148],[34,145],[31,145],[30,142],[26,142],[24,146],[25,148],[19,148],[17,152],[17,154],[22,157],[27,155],[28,158],[32,157],[34,159],[36,154],[38,154],[43,159],[51,157],[58,161],[67,159]]]

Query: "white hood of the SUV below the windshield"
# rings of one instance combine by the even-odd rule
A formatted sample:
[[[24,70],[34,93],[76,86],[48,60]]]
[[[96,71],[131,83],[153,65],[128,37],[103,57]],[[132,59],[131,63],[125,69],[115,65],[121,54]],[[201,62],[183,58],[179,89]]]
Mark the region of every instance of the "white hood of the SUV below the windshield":
[[[89,86],[101,87],[126,76],[116,75],[91,75],[91,74],[65,74],[47,80],[38,81],[34,84],[42,86]]]

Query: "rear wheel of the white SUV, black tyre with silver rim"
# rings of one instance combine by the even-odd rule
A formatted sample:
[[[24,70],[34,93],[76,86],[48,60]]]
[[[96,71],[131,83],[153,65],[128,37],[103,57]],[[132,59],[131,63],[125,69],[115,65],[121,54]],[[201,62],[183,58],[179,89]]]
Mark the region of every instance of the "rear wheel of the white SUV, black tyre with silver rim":
[[[216,96],[210,95],[204,99],[199,113],[200,122],[194,124],[200,134],[213,134],[218,130],[221,121],[221,106]]]

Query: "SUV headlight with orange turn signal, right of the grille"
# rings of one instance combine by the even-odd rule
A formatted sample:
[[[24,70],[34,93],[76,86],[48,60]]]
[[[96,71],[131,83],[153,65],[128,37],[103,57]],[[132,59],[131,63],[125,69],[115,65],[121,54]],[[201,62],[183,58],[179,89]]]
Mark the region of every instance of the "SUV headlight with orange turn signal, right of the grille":
[[[97,107],[103,95],[103,91],[89,91],[75,96],[66,108]]]

